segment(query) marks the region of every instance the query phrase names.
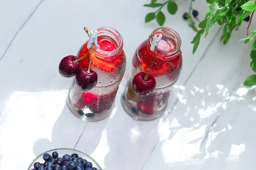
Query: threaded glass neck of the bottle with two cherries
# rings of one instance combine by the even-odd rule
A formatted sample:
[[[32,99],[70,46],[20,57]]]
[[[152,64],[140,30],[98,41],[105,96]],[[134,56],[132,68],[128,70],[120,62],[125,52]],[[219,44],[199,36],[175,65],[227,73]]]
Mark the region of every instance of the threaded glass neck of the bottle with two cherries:
[[[116,31],[116,29],[111,27],[101,27],[96,29],[98,31],[98,45],[95,45],[93,43],[93,53],[101,58],[111,58],[116,56],[122,51],[123,48],[123,40],[121,34]],[[102,43],[107,43],[105,46],[108,45],[108,43],[112,46],[111,48],[108,48],[108,50],[103,47],[104,45],[101,44],[101,41],[107,41]],[[113,44],[114,43],[114,44]]]

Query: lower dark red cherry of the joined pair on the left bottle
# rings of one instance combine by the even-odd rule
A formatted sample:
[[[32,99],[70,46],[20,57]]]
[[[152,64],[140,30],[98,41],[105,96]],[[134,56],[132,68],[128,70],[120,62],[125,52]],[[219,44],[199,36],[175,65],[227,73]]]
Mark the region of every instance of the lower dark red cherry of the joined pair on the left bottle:
[[[98,76],[95,71],[90,70],[87,72],[88,68],[80,68],[76,73],[76,83],[84,90],[88,91],[97,83]]]

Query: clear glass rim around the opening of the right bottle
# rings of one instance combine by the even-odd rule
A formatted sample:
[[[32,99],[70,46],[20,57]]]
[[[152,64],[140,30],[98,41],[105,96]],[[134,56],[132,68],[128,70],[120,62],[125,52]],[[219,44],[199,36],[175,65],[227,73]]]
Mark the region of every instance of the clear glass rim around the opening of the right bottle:
[[[161,49],[158,45],[158,47],[156,49],[157,49],[157,54],[159,54],[160,57],[163,56],[163,58],[166,58],[164,56],[174,55],[180,51],[180,45],[181,45],[180,35],[175,30],[173,30],[172,28],[168,28],[168,27],[160,27],[160,28],[155,29],[149,36],[150,45],[153,42],[154,35],[156,35],[158,37],[159,34],[163,35],[161,41],[163,41],[163,42],[168,41],[169,43],[172,43],[172,45],[174,45],[174,48],[172,48],[172,49],[170,49],[170,48],[162,48]]]

